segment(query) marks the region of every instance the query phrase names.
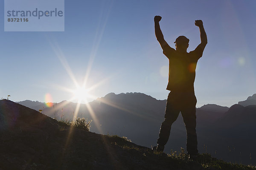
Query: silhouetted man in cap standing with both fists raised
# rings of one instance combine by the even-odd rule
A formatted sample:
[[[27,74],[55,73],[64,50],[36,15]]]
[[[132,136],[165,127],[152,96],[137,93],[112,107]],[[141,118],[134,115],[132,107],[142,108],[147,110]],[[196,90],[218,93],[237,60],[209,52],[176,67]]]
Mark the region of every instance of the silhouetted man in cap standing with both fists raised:
[[[196,20],[195,25],[200,29],[201,43],[194,51],[187,53],[189,39],[185,36],[179,36],[174,42],[175,50],[163,38],[159,25],[161,19],[162,17],[160,16],[154,17],[155,34],[163,49],[163,54],[169,59],[169,82],[166,89],[170,93],[166,103],[165,119],[160,128],[159,139],[157,139],[156,150],[163,152],[164,145],[169,139],[172,123],[175,122],[181,111],[187,131],[186,149],[189,159],[196,159],[198,156],[198,142],[195,131],[195,105],[197,102],[194,92],[195,68],[207,44],[207,36],[203,22]]]

